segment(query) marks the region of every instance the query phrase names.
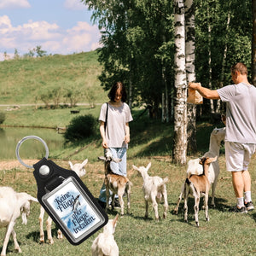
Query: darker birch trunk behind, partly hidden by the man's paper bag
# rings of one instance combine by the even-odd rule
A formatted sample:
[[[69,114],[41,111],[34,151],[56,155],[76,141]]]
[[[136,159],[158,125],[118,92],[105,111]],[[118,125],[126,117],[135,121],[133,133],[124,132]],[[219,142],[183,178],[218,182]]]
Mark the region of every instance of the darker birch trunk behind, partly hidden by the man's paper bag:
[[[187,82],[195,82],[195,4],[193,0],[185,0],[186,28],[186,74]],[[187,104],[188,108],[188,152],[197,151],[196,146],[196,105]]]

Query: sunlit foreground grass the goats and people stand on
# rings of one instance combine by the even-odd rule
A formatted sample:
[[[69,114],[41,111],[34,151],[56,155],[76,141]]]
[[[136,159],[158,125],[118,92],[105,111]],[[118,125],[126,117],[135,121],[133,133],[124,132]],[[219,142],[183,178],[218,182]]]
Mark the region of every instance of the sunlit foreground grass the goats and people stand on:
[[[167,183],[169,211],[166,219],[159,223],[154,221],[154,212],[150,206],[149,218],[143,218],[145,207],[143,200],[143,180],[132,171],[131,165],[145,166],[152,162],[149,169],[150,175],[169,177]],[[56,163],[67,168],[67,162],[57,160]],[[172,215],[180,187],[185,177],[185,168],[173,165],[169,160],[156,160],[153,157],[135,158],[128,160],[128,177],[133,186],[131,188],[131,214],[119,218],[115,231],[115,240],[119,246],[120,255],[253,255],[256,253],[255,221],[256,213],[238,214],[228,212],[235,203],[235,195],[231,185],[230,173],[225,172],[224,156],[220,157],[221,173],[218,178],[216,203],[217,207],[210,209],[210,221],[207,223],[204,212],[199,214],[200,227],[195,227],[193,219],[193,199],[189,198],[189,223],[183,222],[182,207],[178,215]],[[256,194],[256,159],[254,158],[250,172],[253,180],[253,196]],[[22,169],[22,168],[21,168]],[[24,169],[6,170],[1,172],[1,185],[10,185],[18,191],[26,191],[36,196],[36,183],[31,170]],[[89,162],[86,166],[86,175],[82,180],[96,197],[103,180],[102,162]],[[125,199],[126,202],[126,199]],[[113,218],[118,211],[108,212]],[[159,206],[160,215],[163,206]],[[84,241],[79,246],[72,246],[67,239],[58,241],[56,229],[53,225],[53,245],[39,244],[38,226],[39,205],[32,205],[31,216],[26,226],[21,225],[21,220],[15,224],[15,231],[22,250],[21,255],[90,255],[92,241],[95,235]],[[44,228],[45,229],[45,228]],[[4,230],[0,232],[0,241],[3,241]],[[1,249],[1,246],[0,246]],[[8,255],[16,255],[12,239],[9,241]]]

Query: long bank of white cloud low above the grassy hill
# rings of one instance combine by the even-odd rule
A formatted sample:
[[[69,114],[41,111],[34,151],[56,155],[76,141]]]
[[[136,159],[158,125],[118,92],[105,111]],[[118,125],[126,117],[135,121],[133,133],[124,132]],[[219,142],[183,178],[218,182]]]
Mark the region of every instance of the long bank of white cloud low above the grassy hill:
[[[12,26],[7,15],[0,16],[0,52],[11,53],[18,49],[20,55],[29,49],[42,46],[47,54],[73,54],[98,48],[100,32],[96,25],[84,21],[64,30],[56,23],[29,20]]]

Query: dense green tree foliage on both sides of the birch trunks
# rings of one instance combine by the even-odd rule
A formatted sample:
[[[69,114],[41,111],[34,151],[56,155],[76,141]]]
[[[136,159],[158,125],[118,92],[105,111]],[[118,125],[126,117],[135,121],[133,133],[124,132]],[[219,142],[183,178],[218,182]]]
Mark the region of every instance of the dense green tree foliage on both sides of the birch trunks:
[[[121,80],[131,89],[133,101],[151,104],[155,109],[159,108],[166,89],[171,99],[175,49],[173,1],[82,2],[93,10],[92,20],[102,29],[103,47],[99,49],[98,60],[102,64],[99,79],[104,89]],[[204,86],[212,82],[212,89],[221,83],[230,84],[230,66],[237,61],[244,62],[250,73],[251,1],[245,0],[242,5],[239,0],[194,2],[197,80]]]

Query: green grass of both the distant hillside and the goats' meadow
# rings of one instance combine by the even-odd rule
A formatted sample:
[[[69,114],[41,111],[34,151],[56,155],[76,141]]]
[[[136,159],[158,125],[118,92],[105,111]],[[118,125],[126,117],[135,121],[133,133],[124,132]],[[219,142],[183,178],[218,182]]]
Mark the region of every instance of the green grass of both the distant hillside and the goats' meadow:
[[[41,89],[54,88],[62,84],[73,84],[77,78],[81,81],[85,79],[87,73],[86,61],[88,58],[90,66],[88,73],[91,74],[91,82],[96,88],[96,102],[106,102],[106,93],[96,80],[96,73],[99,72],[96,63],[95,53],[84,53],[69,56],[49,56],[43,59],[35,59],[32,62],[18,60],[17,62],[3,61],[0,63],[0,103],[2,104],[25,104],[33,103]],[[91,58],[91,59],[90,59]],[[42,61],[42,62],[41,62]],[[43,63],[44,62],[44,63]],[[43,63],[43,64],[42,64]],[[80,63],[80,64],[79,64]],[[96,66],[93,66],[95,63]],[[42,65],[42,66],[41,66]],[[80,66],[79,66],[80,65]],[[74,67],[74,69],[73,69]],[[91,68],[95,67],[95,68]],[[96,73],[94,73],[96,72]],[[74,73],[73,79],[71,79]],[[26,75],[25,75],[26,74]],[[68,74],[68,76],[67,76]],[[37,77],[38,75],[38,77]],[[61,81],[61,79],[63,79]],[[93,80],[95,79],[95,80]],[[20,83],[18,83],[20,81]],[[54,81],[54,83],[51,83]],[[60,82],[58,82],[60,81]],[[68,82],[69,81],[69,82]],[[60,84],[59,84],[60,83]],[[81,82],[82,83],[82,82]],[[32,85],[33,84],[33,85]],[[76,83],[75,84],[79,84]],[[88,85],[88,84],[87,84]],[[86,85],[86,86],[87,86]],[[32,87],[30,87],[32,86]],[[87,88],[80,84],[80,90]],[[24,90],[24,91],[23,91]],[[91,113],[98,116],[100,106],[90,108],[89,106],[79,106],[79,114]],[[52,127],[66,126],[74,117],[70,113],[70,108],[45,109],[35,106],[20,106],[20,109],[6,111],[6,107],[0,107],[0,111],[6,113],[6,120],[3,125],[12,126],[38,126]],[[115,232],[115,240],[119,246],[120,255],[255,255],[256,253],[256,213],[236,214],[229,212],[229,208],[236,203],[233,192],[230,173],[225,171],[224,147],[220,150],[220,175],[218,177],[216,208],[209,211],[210,222],[206,222],[204,212],[200,211],[200,227],[195,227],[193,219],[193,199],[189,199],[189,223],[183,222],[183,202],[180,205],[178,215],[173,215],[180,188],[186,177],[186,166],[176,166],[172,164],[172,137],[173,125],[162,124],[160,120],[150,120],[147,114],[143,114],[139,119],[142,109],[133,109],[134,121],[131,122],[131,143],[127,156],[128,177],[131,179],[131,213],[119,218]],[[217,125],[220,127],[221,125]],[[197,125],[198,151],[188,156],[195,158],[207,151],[209,137],[215,125],[209,123],[199,123]],[[18,129],[18,128],[17,128]],[[50,148],[49,148],[50,149]],[[86,175],[82,177],[90,192],[98,197],[103,182],[103,164],[97,161],[97,157],[102,155],[101,138],[90,137],[78,144],[69,144],[64,149],[49,151],[49,159],[54,160],[61,167],[68,168],[67,160],[73,163],[81,162],[88,158]],[[149,218],[144,218],[145,207],[143,200],[143,179],[137,176],[137,172],[132,170],[132,165],[146,166],[151,161],[152,167],[149,175],[169,177],[167,183],[169,210],[167,218],[161,219],[159,223],[154,221],[154,212],[150,206]],[[32,169],[26,169],[19,165],[1,168],[0,164],[0,185],[11,186],[15,190],[36,196],[37,186],[32,175]],[[253,200],[256,195],[256,158],[253,157],[249,166],[252,174]],[[162,215],[162,205],[159,207]],[[109,218],[113,218],[119,210],[108,212]],[[67,239],[58,241],[56,239],[56,229],[53,226],[53,245],[47,242],[39,244],[39,205],[32,204],[32,212],[28,218],[26,226],[21,225],[19,218],[15,224],[15,231],[23,253],[20,255],[90,255],[90,247],[94,236],[84,241],[79,246],[72,246]],[[45,217],[46,219],[46,217]],[[0,250],[3,246],[4,230],[0,230]],[[13,240],[10,239],[8,255],[16,255]]]

